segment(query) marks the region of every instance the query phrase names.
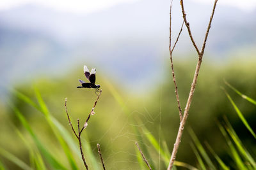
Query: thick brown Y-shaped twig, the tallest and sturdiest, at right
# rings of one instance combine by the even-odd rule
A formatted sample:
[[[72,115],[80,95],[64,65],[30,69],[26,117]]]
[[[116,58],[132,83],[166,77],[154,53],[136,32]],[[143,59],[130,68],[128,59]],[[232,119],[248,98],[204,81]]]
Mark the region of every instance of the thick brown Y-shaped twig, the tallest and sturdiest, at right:
[[[205,33],[205,39],[204,39],[204,44],[202,45],[202,50],[201,50],[201,52],[198,53],[198,62],[197,62],[197,65],[196,65],[196,70],[195,70],[195,75],[194,75],[194,78],[193,78],[193,83],[191,84],[191,89],[190,89],[190,92],[189,92],[189,97],[188,97],[188,101],[187,101],[187,104],[186,104],[186,108],[184,110],[184,115],[183,115],[182,121],[180,122],[180,127],[179,127],[179,131],[178,131],[178,134],[177,134],[177,138],[176,138],[175,144],[173,146],[172,156],[171,156],[171,159],[170,159],[168,170],[171,170],[172,167],[173,167],[173,162],[176,158],[176,154],[177,154],[177,151],[179,149],[180,139],[181,139],[182,133],[184,131],[184,126],[186,124],[186,120],[188,118],[189,108],[190,108],[191,101],[192,101],[192,98],[193,98],[193,95],[194,95],[194,92],[195,92],[195,86],[196,86],[196,81],[197,81],[197,78],[198,78],[198,73],[199,73],[199,70],[200,70],[200,66],[202,64],[202,58],[203,58],[203,55],[204,55],[205,43],[207,41],[207,36],[209,34],[209,29],[211,28],[212,17],[214,15],[214,11],[215,11],[217,1],[218,0],[215,0],[215,2],[214,2],[211,18],[210,18],[210,21],[209,21],[209,24],[208,24],[208,27],[207,27],[207,31]],[[184,21],[185,21],[185,24],[186,24],[187,23],[186,20],[185,20],[186,19],[186,14],[184,13],[183,1],[182,0],[180,0],[180,5],[182,7],[183,18],[184,18]],[[189,29],[189,24],[187,25],[187,27]],[[190,32],[190,34],[191,34],[191,32]],[[193,42],[192,36],[191,36],[191,41]],[[193,42],[193,44],[194,43],[195,42]],[[197,51],[198,48],[196,46],[195,46],[195,48],[196,48],[196,51]]]

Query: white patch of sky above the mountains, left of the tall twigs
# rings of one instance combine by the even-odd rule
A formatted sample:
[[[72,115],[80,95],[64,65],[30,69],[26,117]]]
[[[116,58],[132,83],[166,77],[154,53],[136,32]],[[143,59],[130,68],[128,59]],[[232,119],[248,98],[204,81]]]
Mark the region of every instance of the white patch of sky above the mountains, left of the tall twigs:
[[[119,3],[133,3],[138,0],[1,0],[0,10],[8,10],[22,4],[38,4],[58,11],[90,13],[109,8]]]

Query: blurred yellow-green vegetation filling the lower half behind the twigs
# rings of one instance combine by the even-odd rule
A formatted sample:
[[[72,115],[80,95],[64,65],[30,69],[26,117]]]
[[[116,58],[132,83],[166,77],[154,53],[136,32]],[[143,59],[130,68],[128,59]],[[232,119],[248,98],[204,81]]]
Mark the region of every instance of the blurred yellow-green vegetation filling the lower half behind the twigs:
[[[179,162],[176,162],[178,169],[189,167],[188,164],[198,167],[197,162],[200,162],[202,153],[198,150],[195,156],[195,150],[198,149],[199,141],[207,141],[205,148],[211,148],[225,165],[236,167],[232,165],[230,153],[227,153],[227,138],[220,131],[222,126],[218,125],[224,115],[232,124],[241,143],[250,148],[252,157],[255,157],[256,145],[252,131],[256,129],[256,107],[223,81],[225,78],[239,92],[256,99],[256,69],[255,62],[252,61],[234,59],[228,65],[204,61],[186,124],[186,129],[193,129],[193,132],[190,131],[193,138],[191,139],[188,131],[182,136],[177,154]],[[145,168],[138,161],[141,158],[134,145],[135,141],[138,141],[154,169],[166,169],[179,128],[179,113],[168,63],[166,60],[163,82],[152,80],[152,83],[156,83],[156,88],[137,96],[122,89],[118,82],[110,81],[97,73],[102,96],[95,108],[96,114],[83,132],[84,154],[90,169],[101,168],[97,143],[100,143],[107,169]],[[182,108],[186,105],[194,70],[195,62],[191,60],[175,61]],[[83,168],[78,143],[68,125],[64,108],[67,97],[67,108],[74,127],[77,118],[83,124],[90,113],[97,96],[94,90],[76,89],[77,78],[81,76],[81,71],[74,71],[54,80],[38,78],[32,83],[26,82],[11,90],[10,99],[4,100],[7,104],[0,105],[0,167],[29,169],[28,165],[33,165],[33,169]],[[227,90],[230,98],[221,87]],[[230,99],[243,113],[251,131],[237,115]],[[228,128],[231,129],[231,126]],[[198,141],[195,140],[195,134]],[[192,148],[191,141],[195,142]],[[216,158],[213,153],[212,158]],[[17,160],[15,164],[10,161],[13,159]],[[199,166],[201,169],[204,169],[203,159],[204,157]],[[218,163],[218,159],[212,162],[214,166]]]

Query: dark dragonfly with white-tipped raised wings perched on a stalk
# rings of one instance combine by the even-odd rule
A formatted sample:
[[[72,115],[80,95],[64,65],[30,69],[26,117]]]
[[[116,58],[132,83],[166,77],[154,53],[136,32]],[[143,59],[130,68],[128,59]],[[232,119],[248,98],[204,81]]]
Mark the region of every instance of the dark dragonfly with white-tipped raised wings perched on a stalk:
[[[82,86],[78,86],[77,88],[89,88],[89,89],[92,88],[92,89],[95,89],[95,94],[96,94],[96,91],[98,92],[100,88],[100,85],[95,84],[96,69],[92,69],[90,73],[88,67],[84,65],[84,75],[90,81],[90,83],[86,83],[83,80],[79,79],[79,82],[81,83]]]

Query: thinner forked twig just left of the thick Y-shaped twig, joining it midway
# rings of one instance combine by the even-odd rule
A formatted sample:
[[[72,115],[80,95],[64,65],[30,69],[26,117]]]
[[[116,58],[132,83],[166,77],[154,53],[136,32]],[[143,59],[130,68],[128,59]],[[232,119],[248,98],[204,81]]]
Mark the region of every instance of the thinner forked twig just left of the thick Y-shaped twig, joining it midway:
[[[184,21],[182,23],[182,27],[183,27],[183,24],[184,24]],[[180,36],[181,31],[182,31],[182,27],[180,28],[179,36]],[[176,82],[175,73],[174,73],[174,67],[173,67],[173,60],[172,60],[172,52],[173,52],[173,49],[175,48],[175,45],[177,44],[177,42],[179,40],[179,36],[177,37],[177,39],[175,41],[175,44],[173,45],[173,48],[171,49],[171,46],[172,46],[171,45],[172,44],[172,2],[171,2],[171,5],[170,5],[170,36],[169,36],[170,43],[169,43],[169,52],[170,52],[170,60],[171,60],[171,67],[172,67],[172,78],[173,78],[173,83],[174,83],[174,87],[175,87],[175,96],[176,96],[176,100],[177,100],[177,103],[178,103],[179,116],[180,116],[180,122],[181,122],[181,120],[182,120],[182,110],[181,110],[181,107],[180,107],[179,92],[178,92],[178,87],[177,87],[177,82]]]

